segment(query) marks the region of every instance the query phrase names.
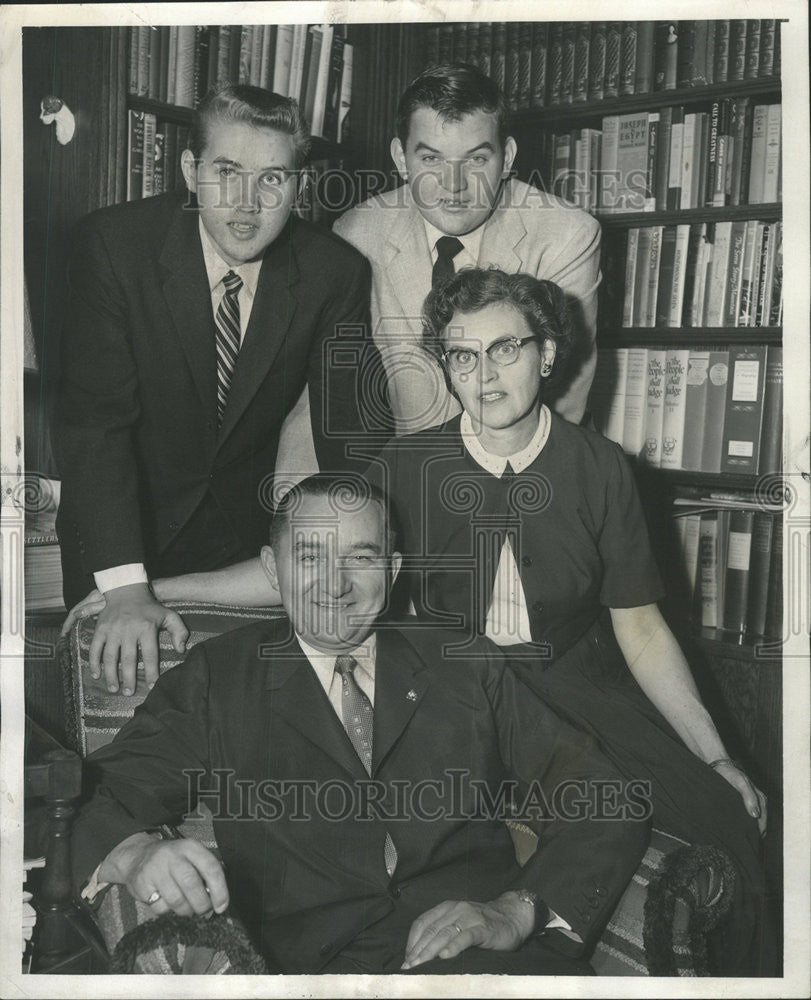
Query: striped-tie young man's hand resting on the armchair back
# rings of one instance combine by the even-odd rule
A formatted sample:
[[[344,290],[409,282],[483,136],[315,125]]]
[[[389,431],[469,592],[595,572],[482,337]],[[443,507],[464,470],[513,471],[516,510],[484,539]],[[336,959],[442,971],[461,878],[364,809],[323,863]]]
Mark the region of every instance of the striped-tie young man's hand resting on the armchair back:
[[[90,643],[90,673],[101,675],[108,691],[118,690],[118,666],[124,694],[135,691],[138,649],[149,687],[158,679],[158,632],[165,628],[178,653],[185,652],[189,630],[180,615],[159,604],[145,583],[108,590]]]

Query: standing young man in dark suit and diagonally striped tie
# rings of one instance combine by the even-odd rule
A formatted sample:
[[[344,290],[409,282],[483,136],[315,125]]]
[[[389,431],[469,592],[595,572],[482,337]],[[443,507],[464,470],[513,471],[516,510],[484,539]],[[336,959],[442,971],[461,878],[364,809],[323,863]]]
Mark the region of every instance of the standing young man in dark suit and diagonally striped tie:
[[[364,400],[380,363],[370,271],[292,214],[309,139],[296,103],[232,86],[198,108],[188,193],[93,213],[71,267],[55,446],[65,600],[106,597],[94,640],[150,668],[185,627],[149,580],[229,565],[267,533],[285,417],[308,389],[319,466],[385,415]]]

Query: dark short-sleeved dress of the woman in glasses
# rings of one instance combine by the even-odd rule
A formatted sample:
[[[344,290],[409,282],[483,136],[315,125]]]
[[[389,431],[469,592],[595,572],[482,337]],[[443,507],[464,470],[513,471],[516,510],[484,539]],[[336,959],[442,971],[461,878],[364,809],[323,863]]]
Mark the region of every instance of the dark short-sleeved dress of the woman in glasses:
[[[721,846],[735,860],[743,893],[723,957],[740,970],[763,894],[757,823],[644,695],[611,628],[608,608],[664,594],[624,454],[552,414],[536,460],[498,479],[468,454],[459,419],[392,441],[370,471],[393,498],[418,615],[460,627],[452,655],[463,656],[464,635],[484,633],[509,533],[533,642],[505,654],[548,704],[595,736],[621,773],[650,781],[655,825]]]

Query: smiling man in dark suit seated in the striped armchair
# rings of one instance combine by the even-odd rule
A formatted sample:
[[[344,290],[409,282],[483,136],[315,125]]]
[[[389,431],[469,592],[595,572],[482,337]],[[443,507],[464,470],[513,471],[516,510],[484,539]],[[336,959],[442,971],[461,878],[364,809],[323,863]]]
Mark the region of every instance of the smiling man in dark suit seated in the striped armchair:
[[[286,973],[588,972],[646,803],[487,640],[381,621],[386,506],[359,478],[287,494],[263,559],[289,624],[195,647],[89,759],[77,886],[156,916],[231,904]],[[223,867],[150,832],[203,793]],[[504,819],[533,813],[520,868]]]

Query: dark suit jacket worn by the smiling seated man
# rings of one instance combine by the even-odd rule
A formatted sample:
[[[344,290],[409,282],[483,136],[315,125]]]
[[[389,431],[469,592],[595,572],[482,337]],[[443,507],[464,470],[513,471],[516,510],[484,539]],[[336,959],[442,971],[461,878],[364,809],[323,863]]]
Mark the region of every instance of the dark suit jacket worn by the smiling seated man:
[[[100,787],[74,831],[77,885],[127,836],[177,821],[194,774],[193,789],[218,789],[208,802],[232,905],[282,971],[318,972],[358,942],[367,961],[371,952],[381,970],[396,968],[425,910],[510,887],[539,891],[586,941],[599,931],[639,862],[645,824],[552,821],[521,869],[505,824],[482,815],[487,796],[473,787],[497,799],[505,781],[525,790],[538,779],[551,802],[567,779],[614,778],[589,736],[558,719],[490,643],[453,660],[443,643],[458,636],[381,630],[371,779],[390,818],[358,820],[366,772],[288,628],[249,626],[195,647],[89,759]],[[443,785],[417,794],[428,779]],[[299,783],[299,818],[281,782]],[[398,851],[391,881],[387,830]]]

